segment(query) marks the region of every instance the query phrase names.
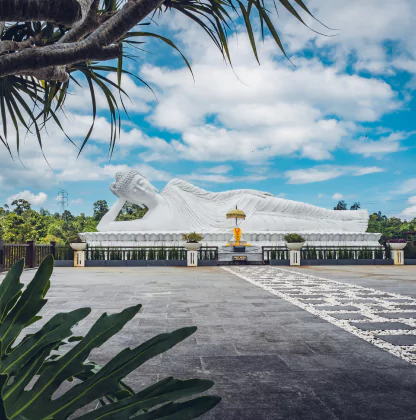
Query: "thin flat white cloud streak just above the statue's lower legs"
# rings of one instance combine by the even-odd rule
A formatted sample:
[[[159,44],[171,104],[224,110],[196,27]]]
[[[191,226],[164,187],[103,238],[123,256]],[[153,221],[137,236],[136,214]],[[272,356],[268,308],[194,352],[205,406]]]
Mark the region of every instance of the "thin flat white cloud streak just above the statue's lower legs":
[[[314,168],[295,169],[284,173],[288,184],[310,184],[312,182],[328,181],[343,175],[362,176],[384,170],[376,166],[356,167],[356,166],[335,166],[320,165]]]

